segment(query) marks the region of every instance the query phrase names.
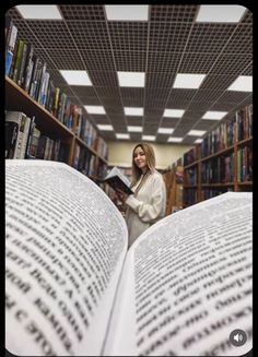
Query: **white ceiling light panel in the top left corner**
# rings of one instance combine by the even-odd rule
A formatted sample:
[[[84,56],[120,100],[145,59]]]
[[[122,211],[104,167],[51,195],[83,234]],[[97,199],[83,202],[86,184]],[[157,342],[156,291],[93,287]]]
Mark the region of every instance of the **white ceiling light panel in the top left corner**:
[[[57,5],[16,5],[15,8],[27,20],[62,20]]]

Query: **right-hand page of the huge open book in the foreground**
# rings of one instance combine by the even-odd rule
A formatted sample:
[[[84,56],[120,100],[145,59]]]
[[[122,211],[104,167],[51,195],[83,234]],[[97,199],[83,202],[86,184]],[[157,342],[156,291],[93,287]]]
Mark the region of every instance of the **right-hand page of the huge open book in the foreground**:
[[[251,238],[251,193],[222,194],[149,228],[128,252],[105,355],[249,352]],[[230,341],[236,329],[246,333],[243,346]]]

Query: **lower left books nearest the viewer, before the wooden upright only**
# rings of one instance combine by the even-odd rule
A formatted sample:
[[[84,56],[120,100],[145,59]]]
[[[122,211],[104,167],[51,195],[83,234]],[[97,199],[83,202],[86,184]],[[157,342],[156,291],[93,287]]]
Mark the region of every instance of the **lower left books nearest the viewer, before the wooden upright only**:
[[[5,158],[43,158],[67,162],[69,147],[36,128],[35,117],[5,111]]]

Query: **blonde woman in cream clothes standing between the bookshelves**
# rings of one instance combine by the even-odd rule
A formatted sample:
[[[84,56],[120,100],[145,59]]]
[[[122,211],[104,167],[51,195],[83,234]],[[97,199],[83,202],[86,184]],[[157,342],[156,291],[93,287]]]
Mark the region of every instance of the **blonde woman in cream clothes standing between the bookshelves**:
[[[133,194],[119,190],[119,199],[127,204],[126,222],[129,247],[153,223],[165,215],[166,188],[155,169],[155,154],[148,143],[139,143],[132,152]]]

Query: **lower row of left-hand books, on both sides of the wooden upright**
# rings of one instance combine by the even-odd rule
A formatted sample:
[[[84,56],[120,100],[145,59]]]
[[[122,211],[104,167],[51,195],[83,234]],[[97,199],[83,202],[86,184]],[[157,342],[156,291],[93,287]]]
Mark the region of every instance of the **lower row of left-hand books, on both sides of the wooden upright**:
[[[40,158],[68,162],[69,145],[43,134],[22,111],[5,111],[5,158]],[[73,167],[87,176],[105,177],[106,164],[87,148],[75,144]]]

